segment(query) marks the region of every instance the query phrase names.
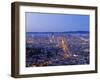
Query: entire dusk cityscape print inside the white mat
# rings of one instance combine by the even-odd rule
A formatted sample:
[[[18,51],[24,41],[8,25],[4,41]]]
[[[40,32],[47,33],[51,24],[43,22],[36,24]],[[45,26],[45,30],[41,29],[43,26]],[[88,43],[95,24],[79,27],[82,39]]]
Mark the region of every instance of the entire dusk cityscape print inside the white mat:
[[[89,18],[26,12],[26,67],[89,64]]]

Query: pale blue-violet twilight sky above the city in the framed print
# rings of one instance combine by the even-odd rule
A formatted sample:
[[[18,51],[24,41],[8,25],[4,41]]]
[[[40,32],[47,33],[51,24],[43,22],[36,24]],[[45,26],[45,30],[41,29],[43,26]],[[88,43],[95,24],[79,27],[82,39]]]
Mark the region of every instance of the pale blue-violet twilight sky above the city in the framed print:
[[[89,15],[26,12],[26,32],[89,31],[89,18]]]

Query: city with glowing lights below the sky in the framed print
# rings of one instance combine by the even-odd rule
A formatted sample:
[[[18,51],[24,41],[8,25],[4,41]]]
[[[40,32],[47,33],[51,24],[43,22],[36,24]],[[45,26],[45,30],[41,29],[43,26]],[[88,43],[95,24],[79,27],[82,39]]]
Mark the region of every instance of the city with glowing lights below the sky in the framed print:
[[[26,36],[26,67],[89,64],[88,32],[33,32]]]

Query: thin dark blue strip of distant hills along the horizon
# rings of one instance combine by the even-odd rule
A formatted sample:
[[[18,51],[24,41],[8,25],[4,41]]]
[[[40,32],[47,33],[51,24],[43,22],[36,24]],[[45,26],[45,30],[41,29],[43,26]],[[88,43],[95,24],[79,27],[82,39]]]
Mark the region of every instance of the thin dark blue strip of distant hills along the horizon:
[[[56,34],[65,34],[65,33],[73,33],[73,34],[78,34],[78,33],[80,33],[80,34],[86,34],[86,33],[89,33],[89,31],[64,31],[64,32],[27,32],[27,33],[29,33],[29,34],[32,34],[32,33],[34,33],[34,34],[50,34],[50,33],[56,33]]]

